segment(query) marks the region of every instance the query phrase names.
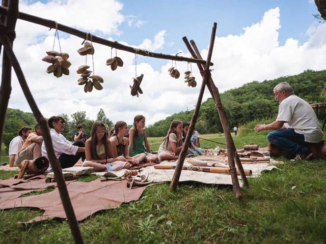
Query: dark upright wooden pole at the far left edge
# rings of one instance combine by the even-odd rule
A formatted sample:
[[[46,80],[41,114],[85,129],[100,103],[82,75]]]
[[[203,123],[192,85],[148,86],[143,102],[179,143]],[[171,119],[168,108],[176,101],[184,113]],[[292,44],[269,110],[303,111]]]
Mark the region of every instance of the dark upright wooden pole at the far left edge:
[[[7,0],[3,1],[2,4],[8,4],[8,14],[7,16],[2,16],[4,23],[8,31],[14,31],[18,16],[18,0]],[[10,40],[10,45],[13,44],[13,39]],[[9,98],[11,94],[11,65],[8,60],[7,54],[4,53],[2,61],[2,77],[1,77],[1,86],[0,86],[0,155],[2,147],[2,138],[4,134],[5,127],[5,118],[9,103]],[[11,167],[13,165],[10,165]]]

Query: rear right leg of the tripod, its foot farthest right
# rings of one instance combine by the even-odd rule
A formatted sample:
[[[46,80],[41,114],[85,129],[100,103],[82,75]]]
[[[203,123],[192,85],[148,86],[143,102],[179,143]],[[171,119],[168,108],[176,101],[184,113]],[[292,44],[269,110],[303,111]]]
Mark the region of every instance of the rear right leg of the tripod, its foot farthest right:
[[[192,46],[194,47],[194,50],[195,50],[195,53],[194,53],[194,54],[195,54],[195,56],[198,57],[198,58],[202,58],[202,56],[200,55],[200,52],[199,52],[199,50],[198,50],[198,48],[197,48],[196,43],[194,42],[194,40],[191,40],[190,42],[191,42]],[[192,49],[192,48],[191,48],[191,49]],[[237,154],[237,152],[236,152],[236,148],[235,148],[235,145],[234,145],[234,141],[233,141],[232,136],[231,136],[231,133],[230,133],[229,123],[228,123],[227,117],[226,117],[226,115],[225,115],[225,112],[224,112],[223,106],[222,106],[222,102],[221,102],[221,99],[220,99],[219,89],[218,89],[218,87],[215,86],[215,84],[214,84],[214,82],[213,82],[213,79],[212,79],[211,77],[210,77],[210,79],[208,80],[208,86],[210,86],[210,87],[212,88],[213,93],[214,93],[214,96],[216,96],[215,101],[219,101],[219,103],[216,103],[216,102],[215,102],[215,106],[218,108],[219,115],[220,115],[220,113],[221,113],[222,115],[224,115],[224,116],[222,116],[222,117],[221,117],[221,115],[220,115],[220,120],[221,120],[221,122],[222,122],[222,119],[223,119],[223,120],[224,120],[224,125],[227,125],[227,126],[228,126],[228,128],[224,128],[224,127],[223,127],[223,123],[222,123],[223,131],[224,131],[224,133],[225,133],[225,137],[227,138],[227,136],[228,136],[228,138],[229,138],[229,143],[231,143],[232,147],[234,148],[234,157],[235,157],[235,162],[236,162],[236,165],[237,165],[237,167],[238,167],[238,169],[239,169],[239,171],[240,171],[240,175],[241,175],[241,179],[242,179],[242,184],[243,184],[243,186],[245,186],[245,187],[249,187],[249,183],[248,183],[248,180],[247,180],[246,174],[244,173],[244,170],[243,170],[243,167],[242,167],[242,164],[241,164],[240,158],[239,158],[239,156],[238,156],[238,154]],[[223,110],[223,111],[220,111],[220,110],[219,110],[219,107],[222,107],[221,110]],[[224,118],[223,118],[223,117],[224,117]],[[225,129],[226,129],[227,133],[226,133]],[[228,135],[227,135],[227,134],[228,134]],[[226,143],[226,144],[227,144],[227,143]],[[227,144],[227,145],[228,145],[228,144]],[[227,148],[228,148],[228,146],[227,146]]]

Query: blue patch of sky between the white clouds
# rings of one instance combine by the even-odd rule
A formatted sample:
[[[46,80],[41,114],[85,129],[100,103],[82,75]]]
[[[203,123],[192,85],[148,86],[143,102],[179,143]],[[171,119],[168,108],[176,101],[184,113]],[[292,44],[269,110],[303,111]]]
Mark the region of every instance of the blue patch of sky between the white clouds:
[[[49,3],[53,1],[29,1]],[[65,1],[61,1],[65,2]],[[152,39],[158,31],[166,30],[166,45],[157,52],[177,53],[185,50],[182,37],[194,39],[199,48],[208,46],[213,22],[218,23],[216,35],[240,35],[244,26],[251,26],[260,21],[262,13],[276,7],[280,8],[281,28],[279,30],[280,45],[288,38],[299,41],[308,40],[307,29],[317,21],[312,14],[318,13],[313,0],[138,0],[119,1],[123,4],[121,13],[124,16],[134,16],[135,20],[143,21],[140,27],[129,26],[128,19],[120,26],[119,35],[103,35],[117,41],[139,45],[145,38]],[[64,34],[62,34],[64,35]],[[172,46],[170,46],[173,43]],[[216,47],[218,48],[218,47]],[[182,54],[180,54],[182,55]],[[140,61],[150,62],[155,70],[165,64],[164,60],[139,57]]]

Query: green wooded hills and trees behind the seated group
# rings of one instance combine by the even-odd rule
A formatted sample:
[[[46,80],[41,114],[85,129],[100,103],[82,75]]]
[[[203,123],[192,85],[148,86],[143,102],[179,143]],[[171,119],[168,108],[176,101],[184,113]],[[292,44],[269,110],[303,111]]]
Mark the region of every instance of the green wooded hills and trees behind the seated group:
[[[240,87],[227,90],[221,94],[221,100],[228,117],[230,128],[239,127],[249,121],[276,116],[278,102],[274,99],[273,88],[280,82],[288,82],[294,89],[297,96],[308,103],[320,103],[325,100],[326,71],[306,70],[301,74],[284,76],[274,80],[262,82],[252,81]],[[219,87],[219,83],[215,83]],[[181,111],[159,120],[147,127],[149,137],[165,136],[170,122],[173,119],[190,121],[193,110]],[[319,118],[324,118],[324,111],[319,112]],[[85,131],[89,134],[94,120],[87,117],[86,111],[76,111],[71,115],[61,114],[66,120],[65,131],[62,133],[68,140],[73,139],[78,125],[84,125]],[[114,124],[105,115],[103,109],[97,113],[96,120],[101,120],[108,126]],[[32,113],[23,112],[18,109],[8,109],[4,131],[3,154],[8,154],[8,146],[13,137],[17,135],[22,126],[34,128],[36,120]],[[129,126],[131,127],[131,125]],[[199,119],[196,123],[196,130],[200,134],[223,132],[218,113],[211,98],[202,103]]]

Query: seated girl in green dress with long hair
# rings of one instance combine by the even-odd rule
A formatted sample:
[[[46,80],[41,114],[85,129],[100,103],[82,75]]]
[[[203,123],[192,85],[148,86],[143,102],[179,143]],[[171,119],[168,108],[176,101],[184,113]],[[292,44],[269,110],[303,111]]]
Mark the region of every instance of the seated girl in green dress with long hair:
[[[146,148],[144,147],[144,142]],[[151,147],[147,141],[145,117],[143,115],[136,115],[134,117],[133,127],[129,131],[129,156],[133,157],[138,154],[145,154],[147,163],[157,161],[157,156],[151,154]]]

